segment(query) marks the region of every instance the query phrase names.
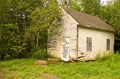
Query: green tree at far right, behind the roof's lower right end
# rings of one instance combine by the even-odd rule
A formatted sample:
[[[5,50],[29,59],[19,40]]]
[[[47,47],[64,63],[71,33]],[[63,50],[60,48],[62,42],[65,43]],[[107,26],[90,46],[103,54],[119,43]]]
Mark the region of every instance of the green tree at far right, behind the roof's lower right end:
[[[116,0],[114,5],[103,6],[100,11],[101,17],[115,29],[115,50],[120,47],[120,1]]]

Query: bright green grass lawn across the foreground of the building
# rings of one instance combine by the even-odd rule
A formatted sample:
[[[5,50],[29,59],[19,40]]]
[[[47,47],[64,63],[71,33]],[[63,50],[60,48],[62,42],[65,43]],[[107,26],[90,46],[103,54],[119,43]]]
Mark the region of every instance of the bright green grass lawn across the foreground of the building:
[[[2,79],[44,79],[42,73],[61,79],[120,79],[120,55],[90,62],[49,63],[47,67],[35,66],[35,59],[0,61]]]

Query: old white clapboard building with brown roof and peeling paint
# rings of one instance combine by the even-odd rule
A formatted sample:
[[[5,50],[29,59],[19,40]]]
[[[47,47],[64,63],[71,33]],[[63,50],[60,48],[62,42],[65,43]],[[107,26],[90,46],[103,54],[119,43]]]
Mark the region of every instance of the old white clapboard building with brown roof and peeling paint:
[[[64,61],[93,60],[114,51],[115,30],[99,17],[61,8],[62,16],[48,36],[48,53]]]

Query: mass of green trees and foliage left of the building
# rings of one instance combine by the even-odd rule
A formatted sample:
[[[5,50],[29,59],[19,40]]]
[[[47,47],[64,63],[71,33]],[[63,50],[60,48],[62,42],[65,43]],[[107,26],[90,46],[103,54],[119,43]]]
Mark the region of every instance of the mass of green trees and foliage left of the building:
[[[47,30],[55,26],[59,15],[56,0],[0,1],[1,59],[29,57],[39,47],[46,48]]]

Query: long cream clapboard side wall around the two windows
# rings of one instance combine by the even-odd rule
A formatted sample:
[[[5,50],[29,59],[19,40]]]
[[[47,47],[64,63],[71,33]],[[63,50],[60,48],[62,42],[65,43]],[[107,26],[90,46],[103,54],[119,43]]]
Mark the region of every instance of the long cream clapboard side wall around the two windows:
[[[92,38],[92,51],[87,52],[87,37]],[[114,33],[92,30],[89,28],[79,27],[78,33],[78,55],[82,52],[85,59],[94,59],[97,54],[103,55],[107,52],[107,39],[110,39],[110,50],[114,50]]]

